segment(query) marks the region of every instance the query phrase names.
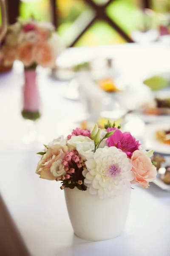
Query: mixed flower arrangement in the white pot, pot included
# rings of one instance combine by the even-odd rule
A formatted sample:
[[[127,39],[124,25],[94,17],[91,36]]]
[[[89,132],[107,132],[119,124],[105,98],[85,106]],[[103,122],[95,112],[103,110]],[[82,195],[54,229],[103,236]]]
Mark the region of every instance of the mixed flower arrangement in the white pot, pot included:
[[[147,188],[156,177],[153,151],[110,122],[105,129],[76,128],[44,146],[36,173],[62,183],[74,233],[91,241],[119,236],[133,184]]]

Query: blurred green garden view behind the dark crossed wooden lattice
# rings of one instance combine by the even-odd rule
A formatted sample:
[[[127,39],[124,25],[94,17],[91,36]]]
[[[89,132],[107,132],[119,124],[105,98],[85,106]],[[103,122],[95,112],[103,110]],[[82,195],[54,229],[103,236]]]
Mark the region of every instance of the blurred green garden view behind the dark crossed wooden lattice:
[[[131,42],[131,32],[144,26],[144,8],[168,26],[170,0],[21,0],[20,15],[53,20],[67,46],[89,46]]]

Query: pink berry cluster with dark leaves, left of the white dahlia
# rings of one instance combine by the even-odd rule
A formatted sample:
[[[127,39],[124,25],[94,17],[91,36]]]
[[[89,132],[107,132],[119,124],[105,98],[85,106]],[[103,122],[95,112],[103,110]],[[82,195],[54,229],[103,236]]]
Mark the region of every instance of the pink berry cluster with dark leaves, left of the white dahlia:
[[[62,181],[60,189],[64,189],[65,187],[74,189],[76,186],[80,190],[86,190],[87,187],[84,185],[85,178],[82,175],[82,171],[86,168],[85,162],[79,156],[77,150],[67,152],[64,160],[62,161],[62,165],[64,166],[67,174],[62,176],[60,179],[56,179],[57,181]]]

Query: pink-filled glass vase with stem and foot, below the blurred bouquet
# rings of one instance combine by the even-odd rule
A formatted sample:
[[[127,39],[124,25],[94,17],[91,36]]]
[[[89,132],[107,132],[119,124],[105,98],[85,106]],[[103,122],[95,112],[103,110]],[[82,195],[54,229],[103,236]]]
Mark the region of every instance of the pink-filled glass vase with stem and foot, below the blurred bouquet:
[[[30,144],[39,141],[40,138],[37,132],[37,122],[35,122],[40,118],[40,93],[36,83],[36,71],[25,69],[24,77],[22,116],[26,119],[27,131],[23,142]]]

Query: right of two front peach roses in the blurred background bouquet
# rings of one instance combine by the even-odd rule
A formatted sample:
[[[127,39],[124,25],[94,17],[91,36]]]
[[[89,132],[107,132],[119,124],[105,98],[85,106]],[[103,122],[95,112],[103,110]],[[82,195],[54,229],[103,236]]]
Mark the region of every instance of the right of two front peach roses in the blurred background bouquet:
[[[42,67],[55,66],[54,49],[47,42],[39,42],[35,47],[35,61]]]

